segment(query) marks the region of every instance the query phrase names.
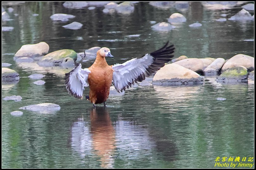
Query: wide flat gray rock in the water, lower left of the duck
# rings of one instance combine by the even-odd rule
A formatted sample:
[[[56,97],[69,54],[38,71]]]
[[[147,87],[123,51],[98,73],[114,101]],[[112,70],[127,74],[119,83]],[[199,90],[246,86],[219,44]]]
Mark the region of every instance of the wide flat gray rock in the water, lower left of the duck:
[[[31,111],[56,111],[60,110],[60,106],[54,103],[40,103],[29,106],[20,107],[19,109],[31,110]]]

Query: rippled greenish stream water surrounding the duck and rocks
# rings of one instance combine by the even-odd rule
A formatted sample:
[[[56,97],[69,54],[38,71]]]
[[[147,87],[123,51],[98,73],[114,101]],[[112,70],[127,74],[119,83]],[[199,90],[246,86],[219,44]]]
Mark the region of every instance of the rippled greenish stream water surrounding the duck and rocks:
[[[65,90],[64,73],[69,69],[13,60],[22,45],[40,41],[49,44],[50,52],[109,47],[115,56],[107,59],[109,65],[151,52],[167,40],[176,47],[175,57],[254,56],[254,41],[247,41],[254,39],[253,22],[214,21],[222,18],[220,14],[234,15],[240,7],[210,10],[192,3],[181,12],[187,23],[167,33],[151,30],[149,21],[166,21],[178,11],[148,3],[135,4],[131,15],[103,14],[103,8],[65,9],[61,2],[12,7],[18,16],[3,22],[14,30],[2,33],[2,62],[11,63],[9,68],[21,79],[17,84],[2,84],[2,98],[20,95],[22,100],[2,100],[3,168],[213,168],[217,156],[253,157],[254,81],[221,85],[215,77],[206,77],[203,85],[180,87],[152,86],[146,81],[123,96],[110,96],[107,108],[94,109]],[[76,18],[53,22],[50,16],[55,13]],[[73,21],[81,22],[82,29],[61,27]],[[203,26],[189,28],[196,21]],[[27,77],[33,73],[44,74],[46,83],[33,84],[35,80]],[[61,110],[10,114],[43,102],[56,103]]]

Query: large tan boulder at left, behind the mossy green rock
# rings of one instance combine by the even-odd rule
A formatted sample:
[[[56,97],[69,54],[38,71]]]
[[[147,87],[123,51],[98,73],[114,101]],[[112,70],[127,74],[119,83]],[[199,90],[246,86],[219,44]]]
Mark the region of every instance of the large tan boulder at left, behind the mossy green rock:
[[[35,58],[39,56],[46,55],[49,51],[49,45],[46,42],[40,42],[37,44],[26,44],[21,46],[16,54],[14,55],[14,59],[20,57],[30,57]]]

